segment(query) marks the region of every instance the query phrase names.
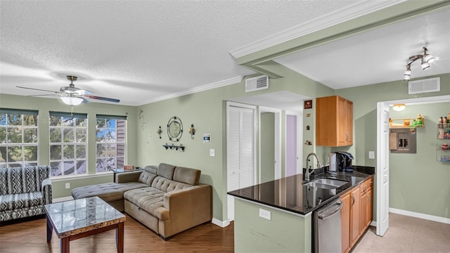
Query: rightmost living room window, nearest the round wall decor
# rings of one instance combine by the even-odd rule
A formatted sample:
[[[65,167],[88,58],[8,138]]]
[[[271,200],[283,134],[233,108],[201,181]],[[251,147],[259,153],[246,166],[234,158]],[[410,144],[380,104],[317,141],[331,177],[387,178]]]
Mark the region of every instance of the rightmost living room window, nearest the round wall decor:
[[[127,117],[97,115],[96,171],[110,171],[125,164]]]

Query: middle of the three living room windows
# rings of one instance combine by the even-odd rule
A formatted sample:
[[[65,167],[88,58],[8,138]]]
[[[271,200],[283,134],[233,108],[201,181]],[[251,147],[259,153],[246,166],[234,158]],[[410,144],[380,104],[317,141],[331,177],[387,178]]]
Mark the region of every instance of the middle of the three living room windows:
[[[87,115],[50,112],[51,176],[86,174]]]

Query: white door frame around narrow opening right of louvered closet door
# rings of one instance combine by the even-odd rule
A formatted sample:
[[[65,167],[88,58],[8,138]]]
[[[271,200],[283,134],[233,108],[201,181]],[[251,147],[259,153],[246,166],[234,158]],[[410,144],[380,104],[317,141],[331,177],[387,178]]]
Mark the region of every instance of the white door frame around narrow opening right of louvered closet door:
[[[281,179],[281,110],[276,108],[268,108],[265,106],[259,106],[258,109],[258,182],[261,183],[261,113],[274,113],[274,179]]]

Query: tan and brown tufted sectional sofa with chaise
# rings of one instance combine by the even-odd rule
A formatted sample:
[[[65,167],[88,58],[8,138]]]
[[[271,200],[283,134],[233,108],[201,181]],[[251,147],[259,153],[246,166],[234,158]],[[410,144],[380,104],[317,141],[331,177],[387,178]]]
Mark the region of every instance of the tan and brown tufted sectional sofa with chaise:
[[[212,220],[212,186],[199,183],[200,173],[162,163],[116,174],[117,183],[74,188],[72,197],[101,197],[167,240]]]

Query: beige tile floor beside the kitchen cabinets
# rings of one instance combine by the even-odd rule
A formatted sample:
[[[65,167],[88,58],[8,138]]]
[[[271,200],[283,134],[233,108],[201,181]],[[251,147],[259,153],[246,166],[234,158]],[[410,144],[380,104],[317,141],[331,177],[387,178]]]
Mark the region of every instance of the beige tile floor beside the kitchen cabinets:
[[[352,253],[450,252],[450,224],[390,213],[385,236],[375,235],[375,229],[369,227]]]

